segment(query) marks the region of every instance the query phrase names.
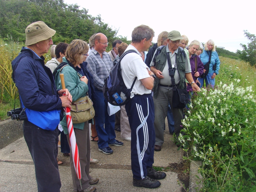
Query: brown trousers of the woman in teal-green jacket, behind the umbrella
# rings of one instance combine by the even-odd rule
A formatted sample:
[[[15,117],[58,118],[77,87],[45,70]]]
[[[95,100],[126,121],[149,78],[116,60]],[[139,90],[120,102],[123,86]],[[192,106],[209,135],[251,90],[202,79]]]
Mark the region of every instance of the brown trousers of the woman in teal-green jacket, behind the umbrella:
[[[74,133],[76,135],[80,166],[81,166],[81,184],[79,179],[77,179],[76,170],[73,163],[72,158],[72,150],[70,147],[69,135],[67,134],[68,144],[70,147],[70,168],[73,180],[73,188],[74,191],[81,191],[90,187],[89,181],[91,180],[91,176],[89,175],[90,169],[90,132],[89,132],[89,124],[88,121],[84,122],[83,130],[74,128]]]

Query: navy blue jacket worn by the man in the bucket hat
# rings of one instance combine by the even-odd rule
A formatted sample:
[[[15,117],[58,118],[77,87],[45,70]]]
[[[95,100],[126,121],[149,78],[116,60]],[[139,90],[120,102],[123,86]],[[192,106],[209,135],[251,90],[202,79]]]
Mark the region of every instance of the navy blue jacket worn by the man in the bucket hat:
[[[44,60],[43,56],[39,58],[23,47],[12,61],[13,81],[26,108],[34,111],[61,110],[62,102],[52,72],[45,66]],[[60,116],[63,118],[63,112]]]

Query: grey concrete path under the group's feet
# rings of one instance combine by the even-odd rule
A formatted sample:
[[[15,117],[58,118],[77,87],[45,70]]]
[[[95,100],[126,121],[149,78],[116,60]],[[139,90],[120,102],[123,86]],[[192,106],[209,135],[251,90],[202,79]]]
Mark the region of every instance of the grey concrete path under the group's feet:
[[[165,133],[165,142],[162,150],[155,152],[154,166],[166,167],[169,163],[179,163],[182,160],[182,150],[177,151],[172,137],[168,132]],[[116,139],[122,141],[120,132],[116,132]],[[105,155],[98,151],[97,142],[91,141],[91,157],[99,159],[99,163],[91,164],[90,175],[98,177],[100,180],[98,184],[94,185],[98,192],[181,191],[181,187],[177,184],[177,174],[173,172],[166,172],[166,178],[160,180],[161,186],[156,189],[134,187],[132,185],[130,142],[123,142],[124,146],[111,146],[114,151],[113,154]],[[63,156],[59,148],[58,158],[63,162],[59,166],[62,183],[60,191],[71,192],[73,191],[73,185],[69,157]],[[24,137],[0,150],[0,191],[37,191],[35,168]]]

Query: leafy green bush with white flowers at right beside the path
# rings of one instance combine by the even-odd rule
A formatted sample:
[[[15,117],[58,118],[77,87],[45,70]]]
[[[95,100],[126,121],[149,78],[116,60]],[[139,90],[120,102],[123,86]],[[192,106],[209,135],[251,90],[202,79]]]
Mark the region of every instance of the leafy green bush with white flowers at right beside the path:
[[[239,82],[195,93],[182,121],[178,139],[193,148],[190,160],[202,161],[205,191],[256,191],[256,101],[252,86]]]

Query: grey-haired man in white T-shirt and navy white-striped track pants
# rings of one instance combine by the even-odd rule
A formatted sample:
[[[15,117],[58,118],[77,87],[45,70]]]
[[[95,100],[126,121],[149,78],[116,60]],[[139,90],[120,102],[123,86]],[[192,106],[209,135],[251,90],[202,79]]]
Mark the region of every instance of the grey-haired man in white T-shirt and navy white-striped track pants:
[[[153,29],[140,25],[132,31],[132,43],[125,51],[135,50],[125,55],[121,62],[122,78],[127,89],[131,91],[131,100],[125,105],[131,127],[131,165],[133,185],[137,187],[156,188],[161,185],[157,179],[166,177],[164,172],[157,172],[154,163],[154,102],[151,90],[155,75],[141,58],[140,52],[146,51],[155,35]]]

